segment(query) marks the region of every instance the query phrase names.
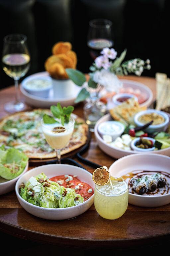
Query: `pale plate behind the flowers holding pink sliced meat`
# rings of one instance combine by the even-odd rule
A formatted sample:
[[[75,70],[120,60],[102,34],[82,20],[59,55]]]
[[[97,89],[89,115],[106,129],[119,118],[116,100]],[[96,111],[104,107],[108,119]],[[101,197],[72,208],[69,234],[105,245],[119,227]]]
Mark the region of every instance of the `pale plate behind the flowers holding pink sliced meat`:
[[[123,82],[123,87],[127,88],[127,87],[131,87],[134,90],[135,89],[139,89],[141,91],[141,93],[146,94],[146,98],[147,100],[143,103],[140,104],[141,107],[148,107],[150,106],[150,104],[152,103],[153,100],[153,93],[152,91],[149,89],[149,87],[147,87],[146,85],[133,81],[133,80],[126,80],[126,79],[120,79]],[[113,107],[115,107],[115,103],[113,102],[113,100],[110,100],[107,104],[107,109],[111,109]]]

